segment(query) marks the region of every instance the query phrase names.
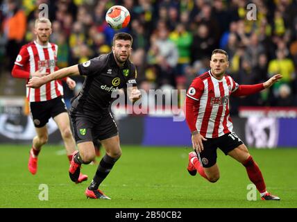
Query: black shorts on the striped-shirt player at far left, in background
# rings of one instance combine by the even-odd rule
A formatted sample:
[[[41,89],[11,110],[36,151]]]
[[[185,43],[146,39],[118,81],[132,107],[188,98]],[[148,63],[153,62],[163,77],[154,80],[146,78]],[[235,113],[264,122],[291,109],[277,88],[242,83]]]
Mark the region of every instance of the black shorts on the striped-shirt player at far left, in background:
[[[53,118],[62,112],[67,112],[62,96],[49,101],[31,102],[30,110],[36,128],[45,126],[51,117]]]

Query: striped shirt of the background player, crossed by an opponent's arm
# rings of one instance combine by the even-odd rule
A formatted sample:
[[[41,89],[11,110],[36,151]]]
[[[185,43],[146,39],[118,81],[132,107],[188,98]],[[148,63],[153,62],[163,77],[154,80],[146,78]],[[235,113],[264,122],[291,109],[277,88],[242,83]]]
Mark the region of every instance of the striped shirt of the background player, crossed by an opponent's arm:
[[[58,70],[58,67],[56,67],[57,54],[58,46],[56,44],[48,43],[47,46],[42,46],[35,41],[30,42],[22,46],[15,60],[15,65],[22,67],[24,71],[28,71],[30,74],[35,73],[37,70],[50,74]],[[28,80],[29,76],[27,82]],[[37,89],[26,88],[29,102],[48,101],[62,94],[63,87],[60,80],[53,80]]]

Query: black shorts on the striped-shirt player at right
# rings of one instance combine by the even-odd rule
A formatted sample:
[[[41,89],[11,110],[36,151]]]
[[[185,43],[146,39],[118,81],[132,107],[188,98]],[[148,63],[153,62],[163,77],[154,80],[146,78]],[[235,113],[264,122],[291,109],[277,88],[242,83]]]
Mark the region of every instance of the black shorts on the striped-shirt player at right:
[[[203,167],[212,167],[217,162],[217,148],[220,148],[225,155],[228,155],[230,151],[237,148],[237,146],[244,144],[237,135],[232,133],[227,133],[221,137],[217,138],[207,138],[203,142],[203,151],[197,153],[200,163]]]

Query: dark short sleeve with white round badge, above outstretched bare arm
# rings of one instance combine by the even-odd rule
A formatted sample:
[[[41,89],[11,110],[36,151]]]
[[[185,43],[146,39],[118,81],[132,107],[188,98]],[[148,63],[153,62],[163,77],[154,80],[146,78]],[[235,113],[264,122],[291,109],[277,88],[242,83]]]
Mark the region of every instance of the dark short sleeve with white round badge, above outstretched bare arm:
[[[78,70],[80,75],[83,76],[92,76],[99,74],[105,65],[105,60],[102,56],[92,58],[92,60],[88,60],[87,62],[83,62],[78,64]]]

